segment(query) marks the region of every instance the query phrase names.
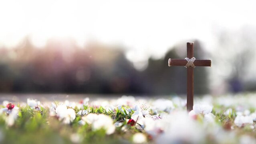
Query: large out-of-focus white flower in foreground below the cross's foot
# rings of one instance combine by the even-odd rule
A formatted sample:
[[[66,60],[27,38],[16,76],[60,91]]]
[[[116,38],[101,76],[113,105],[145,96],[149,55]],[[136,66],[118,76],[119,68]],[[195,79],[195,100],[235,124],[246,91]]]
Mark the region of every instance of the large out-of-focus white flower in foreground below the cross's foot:
[[[157,136],[156,143],[169,144],[170,142],[200,144],[203,143],[205,131],[195,120],[189,118],[187,112],[177,111],[161,119],[163,133]]]

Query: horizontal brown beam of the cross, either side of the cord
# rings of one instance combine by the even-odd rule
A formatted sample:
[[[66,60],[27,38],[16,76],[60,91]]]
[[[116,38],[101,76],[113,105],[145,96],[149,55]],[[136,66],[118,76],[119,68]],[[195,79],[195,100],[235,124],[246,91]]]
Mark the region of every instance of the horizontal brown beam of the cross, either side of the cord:
[[[171,59],[168,61],[169,66],[185,66],[187,64],[187,60],[185,59]],[[195,66],[212,66],[211,60],[195,60]]]

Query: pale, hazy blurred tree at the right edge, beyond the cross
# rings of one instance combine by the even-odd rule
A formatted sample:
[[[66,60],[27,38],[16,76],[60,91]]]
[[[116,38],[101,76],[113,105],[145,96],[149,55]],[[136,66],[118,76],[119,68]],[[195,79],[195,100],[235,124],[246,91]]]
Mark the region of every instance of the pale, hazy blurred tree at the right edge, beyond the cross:
[[[255,35],[256,29],[244,27],[237,31],[222,30],[216,34],[214,55],[219,79],[228,82],[232,92],[256,90]]]

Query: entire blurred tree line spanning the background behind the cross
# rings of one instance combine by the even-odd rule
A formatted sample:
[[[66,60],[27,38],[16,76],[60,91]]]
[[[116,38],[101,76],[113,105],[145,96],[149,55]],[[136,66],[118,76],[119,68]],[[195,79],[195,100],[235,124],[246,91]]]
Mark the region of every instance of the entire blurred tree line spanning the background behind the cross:
[[[194,41],[197,59],[212,60],[211,68],[195,68],[195,94],[255,91],[255,34],[250,27],[216,32],[210,51],[200,40],[188,40]],[[161,58],[134,63],[118,44],[88,42],[82,47],[69,38],[50,39],[38,48],[26,37],[14,47],[0,47],[0,92],[185,94],[186,68],[168,67],[167,62],[186,54],[182,41]]]

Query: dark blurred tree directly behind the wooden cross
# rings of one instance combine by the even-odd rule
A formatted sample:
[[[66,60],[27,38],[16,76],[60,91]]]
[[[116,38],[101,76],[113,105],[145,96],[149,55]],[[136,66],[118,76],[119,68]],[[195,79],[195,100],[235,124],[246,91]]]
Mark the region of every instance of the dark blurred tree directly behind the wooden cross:
[[[177,51],[181,50],[181,55],[177,54]],[[205,52],[202,50],[198,41],[194,43],[194,56],[197,59],[203,59]],[[152,94],[185,94],[186,93],[186,81],[187,71],[186,68],[168,67],[169,58],[185,58],[186,47],[176,46],[171,48],[163,59],[153,60],[149,59],[148,67],[142,73],[142,77],[145,81],[145,91]],[[194,71],[194,85],[195,94],[205,94],[208,92],[208,77],[206,69],[204,67],[196,67]]]

